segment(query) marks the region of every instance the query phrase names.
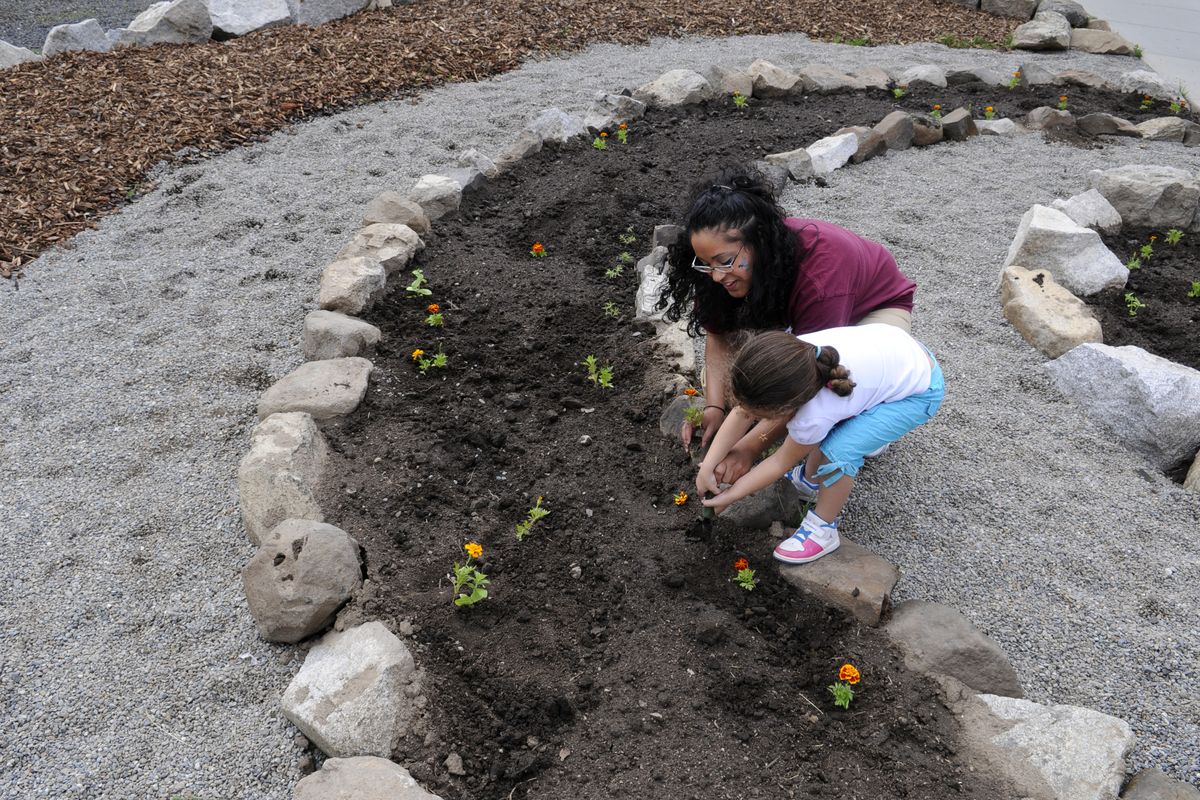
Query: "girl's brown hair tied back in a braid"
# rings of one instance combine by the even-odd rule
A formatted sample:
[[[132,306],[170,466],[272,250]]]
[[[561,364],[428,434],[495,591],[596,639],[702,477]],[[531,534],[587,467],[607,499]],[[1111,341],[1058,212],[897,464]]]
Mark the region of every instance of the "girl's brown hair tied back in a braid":
[[[854,391],[838,350],[814,347],[784,331],[751,338],[730,368],[730,395],[756,416],[791,416],[822,389],[839,397]]]

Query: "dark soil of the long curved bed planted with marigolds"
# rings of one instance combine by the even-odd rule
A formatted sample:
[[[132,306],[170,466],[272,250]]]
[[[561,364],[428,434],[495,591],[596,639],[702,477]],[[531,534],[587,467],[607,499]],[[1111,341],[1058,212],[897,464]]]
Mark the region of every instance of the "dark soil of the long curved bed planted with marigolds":
[[[370,315],[384,344],[364,404],[326,427],[341,480],[323,507],[365,547],[373,590],[350,616],[413,632],[428,730],[395,757],[446,800],[1012,794],[965,763],[935,684],[880,631],[782,582],[767,534],[707,530],[695,499],[672,503],[694,468],[658,434],[664,357],[630,319],[634,270],[605,270],[644,254],[709,170],[894,108],[884,92],[752,102],[652,113],[628,145],[523,161],[426,237],[414,266],[433,294],[397,288]],[[959,90],[902,106],[932,102],[1003,108]],[[425,325],[427,302],[445,327]],[[420,375],[418,348],[449,365]],[[614,389],[587,380],[590,354]],[[550,516],[518,542],[539,497]],[[492,596],[458,609],[446,575],[473,540]],[[731,581],[739,557],[754,591]],[[844,711],[827,687],[847,661],[863,682]]]

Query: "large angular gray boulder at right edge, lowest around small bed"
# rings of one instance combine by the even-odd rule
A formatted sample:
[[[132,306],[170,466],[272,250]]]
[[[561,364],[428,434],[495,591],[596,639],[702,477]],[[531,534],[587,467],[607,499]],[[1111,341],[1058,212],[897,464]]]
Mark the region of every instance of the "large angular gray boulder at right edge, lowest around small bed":
[[[1200,449],[1200,371],[1136,347],[1080,344],[1046,363],[1087,416],[1168,471]]]

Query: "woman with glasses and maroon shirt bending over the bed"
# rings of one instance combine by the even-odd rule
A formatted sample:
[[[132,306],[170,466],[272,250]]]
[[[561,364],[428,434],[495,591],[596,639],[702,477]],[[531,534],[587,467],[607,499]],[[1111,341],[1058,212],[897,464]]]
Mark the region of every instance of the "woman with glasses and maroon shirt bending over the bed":
[[[882,245],[818,219],[786,217],[756,170],[737,167],[694,190],[684,231],[671,248],[666,318],[684,315],[692,336],[706,335],[702,446],[726,415],[725,391],[736,335],[788,330],[793,335],[886,323],[912,329],[917,284]],[[695,432],[684,423],[689,446]],[[781,434],[782,429],[776,432]],[[744,475],[761,441],[740,441],[718,465],[719,482]]]

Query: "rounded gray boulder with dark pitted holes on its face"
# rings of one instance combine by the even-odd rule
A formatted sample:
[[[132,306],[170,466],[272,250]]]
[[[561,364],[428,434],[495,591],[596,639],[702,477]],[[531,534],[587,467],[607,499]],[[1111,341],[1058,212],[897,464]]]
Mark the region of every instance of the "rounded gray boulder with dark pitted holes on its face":
[[[241,583],[264,639],[306,639],[362,585],[359,543],[323,522],[284,519],[241,571]]]

